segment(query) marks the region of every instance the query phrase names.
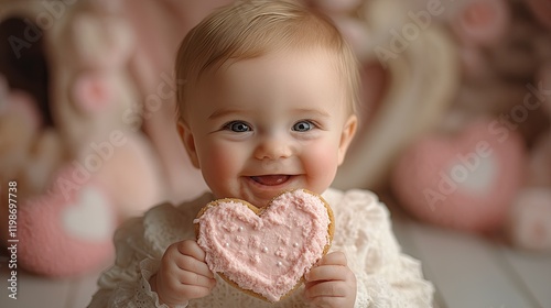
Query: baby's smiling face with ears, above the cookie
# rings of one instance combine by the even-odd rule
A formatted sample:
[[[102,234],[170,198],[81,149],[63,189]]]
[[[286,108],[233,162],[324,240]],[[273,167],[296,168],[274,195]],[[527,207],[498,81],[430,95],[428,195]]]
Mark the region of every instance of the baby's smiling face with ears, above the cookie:
[[[266,206],[282,190],[323,193],[356,129],[329,55],[278,52],[204,76],[181,134],[217,198]]]

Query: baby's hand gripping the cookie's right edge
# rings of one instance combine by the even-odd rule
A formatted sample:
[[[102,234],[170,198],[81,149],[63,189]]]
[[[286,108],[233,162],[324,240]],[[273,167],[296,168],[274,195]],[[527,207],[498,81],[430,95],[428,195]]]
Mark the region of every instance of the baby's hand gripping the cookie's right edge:
[[[356,276],[346,265],[346,255],[333,252],[325,255],[305,275],[304,296],[314,307],[354,307]]]

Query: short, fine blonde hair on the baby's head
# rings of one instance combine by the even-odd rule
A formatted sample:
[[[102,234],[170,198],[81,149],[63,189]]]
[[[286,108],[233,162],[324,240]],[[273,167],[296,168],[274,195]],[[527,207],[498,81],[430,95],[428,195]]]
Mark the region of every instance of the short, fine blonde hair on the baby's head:
[[[186,88],[228,62],[289,48],[322,48],[336,56],[350,113],[358,105],[359,73],[354,52],[324,14],[293,1],[242,0],[223,7],[193,28],[176,56],[177,108],[185,121]]]

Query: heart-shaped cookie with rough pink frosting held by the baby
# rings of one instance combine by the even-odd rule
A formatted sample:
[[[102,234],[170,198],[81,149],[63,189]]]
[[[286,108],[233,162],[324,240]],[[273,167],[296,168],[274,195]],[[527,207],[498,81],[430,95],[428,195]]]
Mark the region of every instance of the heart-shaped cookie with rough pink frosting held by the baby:
[[[334,232],[327,202],[304,189],[284,191],[261,209],[239,199],[215,200],[194,222],[210,271],[268,301],[300,286],[327,253]]]

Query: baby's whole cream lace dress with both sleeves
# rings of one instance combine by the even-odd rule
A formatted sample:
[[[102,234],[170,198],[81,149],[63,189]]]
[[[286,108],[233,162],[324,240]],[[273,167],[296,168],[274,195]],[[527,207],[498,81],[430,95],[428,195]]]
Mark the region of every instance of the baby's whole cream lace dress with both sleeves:
[[[423,279],[420,263],[402,254],[390,227],[389,213],[377,196],[366,190],[328,189],[322,195],[335,216],[331,251],[342,251],[356,274],[355,307],[431,307],[433,286]],[[156,206],[142,218],[126,222],[115,235],[116,263],[102,273],[99,290],[89,308],[166,307],[151,292],[149,278],[156,273],[163,252],[177,241],[194,239],[193,219],[210,201],[201,198],[174,207]],[[269,304],[237,290],[217,277],[212,294],[182,307],[305,307],[303,287]]]

